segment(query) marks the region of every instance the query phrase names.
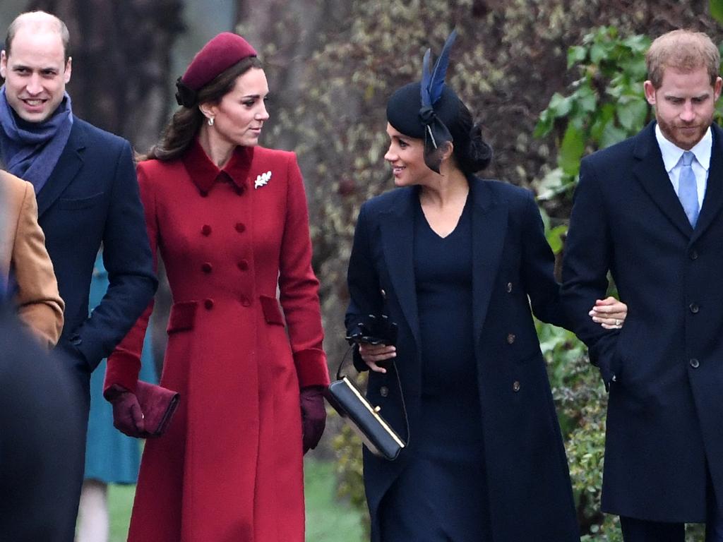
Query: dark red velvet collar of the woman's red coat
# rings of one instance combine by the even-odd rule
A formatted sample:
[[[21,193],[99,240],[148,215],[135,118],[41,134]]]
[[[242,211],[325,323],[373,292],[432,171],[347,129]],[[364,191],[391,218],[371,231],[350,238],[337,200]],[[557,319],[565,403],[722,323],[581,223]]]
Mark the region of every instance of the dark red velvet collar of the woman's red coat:
[[[237,190],[245,190],[246,180],[249,176],[249,166],[254,154],[253,147],[238,146],[228,160],[228,163],[219,169],[206,155],[198,139],[190,145],[184,155],[183,162],[193,183],[202,194],[208,194],[213,184],[231,181]]]

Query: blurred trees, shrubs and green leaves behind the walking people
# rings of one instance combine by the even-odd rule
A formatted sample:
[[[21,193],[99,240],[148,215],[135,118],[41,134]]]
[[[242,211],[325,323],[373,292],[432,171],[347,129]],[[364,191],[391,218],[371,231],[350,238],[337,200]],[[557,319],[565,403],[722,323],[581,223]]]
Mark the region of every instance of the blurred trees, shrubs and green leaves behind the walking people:
[[[643,53],[676,27],[721,43],[716,0],[2,0],[0,33],[20,12],[44,9],[71,33],[74,112],[129,139],[155,142],[174,110],[174,81],[203,43],[231,30],[260,52],[271,119],[262,145],[295,150],[304,173],[322,285],[330,368],[346,348],[346,265],[359,205],[391,189],[385,103],[418,79],[427,47],[450,30],[452,85],[484,126],[495,160],[484,176],[538,196],[559,255],[583,154],[612,145],[650,118]],[[158,293],[153,358],[160,364],[167,288]],[[624,300],[623,300],[624,301]],[[585,350],[539,326],[578,499],[583,541],[618,541],[599,514],[605,394]],[[309,541],[364,539],[360,444],[330,417],[307,457]],[[124,540],[132,487],[111,491],[112,540]],[[691,530],[690,540],[698,533]],[[531,534],[534,539],[534,534]]]

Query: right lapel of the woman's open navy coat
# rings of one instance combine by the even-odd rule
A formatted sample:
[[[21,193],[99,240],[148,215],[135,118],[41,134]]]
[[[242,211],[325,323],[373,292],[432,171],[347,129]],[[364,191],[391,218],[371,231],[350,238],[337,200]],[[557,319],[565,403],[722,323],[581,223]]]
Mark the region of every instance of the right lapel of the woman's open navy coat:
[[[500,267],[507,233],[508,207],[476,178],[470,179],[472,206],[472,315],[475,340],[482,333],[489,297]]]

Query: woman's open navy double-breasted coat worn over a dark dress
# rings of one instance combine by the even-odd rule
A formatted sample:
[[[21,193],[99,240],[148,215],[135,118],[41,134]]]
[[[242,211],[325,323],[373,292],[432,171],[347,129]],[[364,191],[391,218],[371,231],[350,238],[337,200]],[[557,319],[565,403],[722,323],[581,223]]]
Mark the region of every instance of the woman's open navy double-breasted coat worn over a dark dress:
[[[532,311],[562,325],[554,257],[534,197],[498,181],[470,177],[473,319],[482,407],[489,516],[495,541],[578,541],[568,463]],[[346,327],[366,314],[388,314],[399,326],[398,366],[411,444],[389,462],[364,449],[364,484],[372,541],[378,509],[414,447],[421,413],[421,353],[413,268],[414,188],[395,189],[361,207],[348,269]],[[452,339],[453,340],[453,339]],[[356,354],[356,366],[364,362]],[[474,377],[474,375],[471,375]],[[367,397],[406,435],[393,371],[370,372]],[[440,442],[440,447],[445,443]],[[442,514],[453,514],[454,503]]]

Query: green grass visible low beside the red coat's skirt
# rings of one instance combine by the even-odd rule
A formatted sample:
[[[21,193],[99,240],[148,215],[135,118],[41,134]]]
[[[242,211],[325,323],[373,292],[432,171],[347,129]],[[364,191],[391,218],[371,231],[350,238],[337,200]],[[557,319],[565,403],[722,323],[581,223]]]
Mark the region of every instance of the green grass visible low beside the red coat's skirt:
[[[307,459],[304,462],[307,503],[307,541],[362,542],[364,530],[356,510],[335,494],[334,465]],[[110,486],[108,508],[111,515],[110,542],[125,542],[133,506],[135,486]]]

